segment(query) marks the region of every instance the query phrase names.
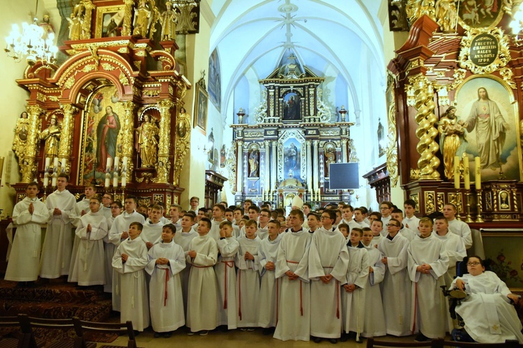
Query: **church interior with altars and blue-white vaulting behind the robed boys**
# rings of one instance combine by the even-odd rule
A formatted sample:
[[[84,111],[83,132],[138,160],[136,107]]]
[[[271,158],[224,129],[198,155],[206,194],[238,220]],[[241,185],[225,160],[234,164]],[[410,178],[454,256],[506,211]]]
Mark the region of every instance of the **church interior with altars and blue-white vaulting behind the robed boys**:
[[[45,202],[66,174],[77,200],[167,212],[451,204],[469,256],[523,294],[522,3],[3,1],[0,273],[27,184]]]

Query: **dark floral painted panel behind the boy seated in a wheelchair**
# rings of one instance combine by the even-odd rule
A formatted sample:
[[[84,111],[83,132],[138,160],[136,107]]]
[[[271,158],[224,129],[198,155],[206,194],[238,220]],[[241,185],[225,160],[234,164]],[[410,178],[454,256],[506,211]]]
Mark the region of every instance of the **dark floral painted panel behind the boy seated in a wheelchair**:
[[[521,232],[482,231],[485,258],[491,270],[510,290],[523,291],[523,242]]]

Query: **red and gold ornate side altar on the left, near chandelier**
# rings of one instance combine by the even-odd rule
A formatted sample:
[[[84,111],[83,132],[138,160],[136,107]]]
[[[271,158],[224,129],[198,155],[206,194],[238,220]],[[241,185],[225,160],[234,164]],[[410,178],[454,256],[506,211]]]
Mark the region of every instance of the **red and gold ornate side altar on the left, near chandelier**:
[[[57,174],[67,173],[73,193],[96,184],[119,199],[177,203],[191,129],[182,99],[191,84],[174,59],[174,29],[158,35],[172,8],[97,3],[73,9],[65,62],[36,63],[17,80],[30,92],[13,143],[22,173],[17,200],[23,183],[43,182],[50,193]]]

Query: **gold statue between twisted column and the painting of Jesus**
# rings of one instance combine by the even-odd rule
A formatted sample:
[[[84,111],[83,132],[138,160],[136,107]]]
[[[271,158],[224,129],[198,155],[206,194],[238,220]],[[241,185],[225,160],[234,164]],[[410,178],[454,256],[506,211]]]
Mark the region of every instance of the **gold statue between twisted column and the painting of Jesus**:
[[[439,149],[443,154],[445,176],[451,179],[454,176],[454,157],[463,155],[467,149],[465,129],[457,122],[456,108],[450,106],[439,120]]]

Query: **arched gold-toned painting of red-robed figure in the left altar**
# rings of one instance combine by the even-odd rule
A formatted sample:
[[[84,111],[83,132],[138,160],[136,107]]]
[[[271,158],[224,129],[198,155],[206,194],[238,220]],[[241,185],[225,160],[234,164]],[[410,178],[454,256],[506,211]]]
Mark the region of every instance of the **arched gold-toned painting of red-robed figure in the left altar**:
[[[79,184],[103,184],[107,159],[121,157],[121,116],[115,86],[95,90],[84,111]]]

